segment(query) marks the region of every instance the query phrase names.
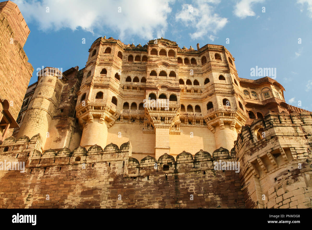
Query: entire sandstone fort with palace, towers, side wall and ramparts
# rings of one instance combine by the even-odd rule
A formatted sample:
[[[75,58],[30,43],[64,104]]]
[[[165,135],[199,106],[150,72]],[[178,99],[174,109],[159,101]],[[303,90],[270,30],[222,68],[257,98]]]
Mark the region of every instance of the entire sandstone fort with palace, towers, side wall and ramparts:
[[[1,208],[311,208],[311,112],[224,46],[104,36],[28,86],[30,31],[11,1],[0,19],[0,162],[25,162],[0,170]]]

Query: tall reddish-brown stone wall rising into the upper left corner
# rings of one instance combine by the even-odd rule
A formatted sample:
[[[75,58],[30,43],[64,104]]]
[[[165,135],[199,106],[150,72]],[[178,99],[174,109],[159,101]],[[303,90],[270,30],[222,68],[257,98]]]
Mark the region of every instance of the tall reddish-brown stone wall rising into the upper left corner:
[[[16,4],[0,3],[0,97],[10,103],[9,112],[15,120],[33,72],[23,50],[29,32]],[[8,130],[6,136],[12,131]]]

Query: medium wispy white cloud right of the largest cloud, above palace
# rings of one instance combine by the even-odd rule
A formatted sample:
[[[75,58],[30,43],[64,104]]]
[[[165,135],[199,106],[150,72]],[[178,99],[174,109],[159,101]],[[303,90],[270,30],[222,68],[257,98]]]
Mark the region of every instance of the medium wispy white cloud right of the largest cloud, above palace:
[[[228,22],[227,18],[220,17],[214,13],[214,7],[210,4],[218,4],[220,0],[197,0],[194,5],[183,4],[182,10],[175,15],[176,21],[182,21],[185,26],[196,28],[190,33],[191,38],[204,38],[207,36],[212,41],[215,34]]]

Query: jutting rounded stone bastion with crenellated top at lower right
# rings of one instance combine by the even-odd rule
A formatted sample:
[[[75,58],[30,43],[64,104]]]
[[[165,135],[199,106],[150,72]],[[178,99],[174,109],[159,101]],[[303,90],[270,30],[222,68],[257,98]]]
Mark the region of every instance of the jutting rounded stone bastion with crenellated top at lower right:
[[[311,113],[272,113],[235,142],[246,207],[311,207]]]

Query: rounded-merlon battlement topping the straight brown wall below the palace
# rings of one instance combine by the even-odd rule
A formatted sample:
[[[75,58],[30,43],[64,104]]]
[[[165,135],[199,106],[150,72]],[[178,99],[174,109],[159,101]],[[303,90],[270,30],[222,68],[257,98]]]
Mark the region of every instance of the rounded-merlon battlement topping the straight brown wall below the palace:
[[[132,157],[132,146],[130,141],[123,143],[120,148],[110,143],[102,149],[94,145],[88,150],[79,146],[73,151],[69,148],[60,150],[49,149],[41,153],[41,136],[37,134],[32,138],[23,136],[15,139],[13,136],[5,139],[0,146],[2,155],[0,158],[18,158],[27,161],[26,168],[62,166],[71,164],[92,164],[101,162],[124,161],[123,166],[127,167],[124,176],[143,176],[146,173],[173,173],[178,170],[199,171],[214,170],[214,161],[236,161],[234,149],[231,154],[227,149],[220,147],[212,153],[200,150],[194,156],[186,151],[178,154],[176,160],[167,153],[158,160],[152,156],[144,157],[140,163]],[[18,156],[18,157],[17,157]]]

